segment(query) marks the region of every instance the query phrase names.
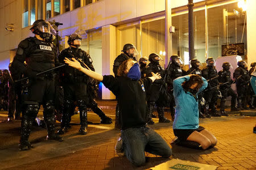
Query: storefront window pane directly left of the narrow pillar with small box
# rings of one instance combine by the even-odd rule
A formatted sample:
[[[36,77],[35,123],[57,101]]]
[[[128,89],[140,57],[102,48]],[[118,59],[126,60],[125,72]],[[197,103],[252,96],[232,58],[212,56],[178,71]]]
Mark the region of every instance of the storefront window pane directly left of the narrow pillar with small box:
[[[162,58],[160,65],[165,65],[165,20],[159,19],[142,23],[141,56],[148,57],[157,53]]]

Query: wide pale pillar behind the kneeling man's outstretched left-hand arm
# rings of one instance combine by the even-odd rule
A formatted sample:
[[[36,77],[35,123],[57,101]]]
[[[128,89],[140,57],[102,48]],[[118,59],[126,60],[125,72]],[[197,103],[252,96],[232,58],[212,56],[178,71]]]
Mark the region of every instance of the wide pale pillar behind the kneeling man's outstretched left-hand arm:
[[[114,75],[113,64],[115,57],[115,27],[102,27],[102,75]],[[115,95],[102,84],[102,99],[115,99]]]

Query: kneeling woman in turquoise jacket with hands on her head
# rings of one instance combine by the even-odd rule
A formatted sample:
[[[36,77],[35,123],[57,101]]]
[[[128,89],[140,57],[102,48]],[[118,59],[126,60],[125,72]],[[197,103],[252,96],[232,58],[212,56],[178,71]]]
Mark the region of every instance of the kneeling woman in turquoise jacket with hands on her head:
[[[203,91],[207,85],[207,80],[193,74],[181,76],[174,80],[176,104],[173,124],[174,134],[180,142],[196,142],[204,150],[215,146],[217,143],[217,139],[212,133],[199,126],[199,101],[197,94]]]

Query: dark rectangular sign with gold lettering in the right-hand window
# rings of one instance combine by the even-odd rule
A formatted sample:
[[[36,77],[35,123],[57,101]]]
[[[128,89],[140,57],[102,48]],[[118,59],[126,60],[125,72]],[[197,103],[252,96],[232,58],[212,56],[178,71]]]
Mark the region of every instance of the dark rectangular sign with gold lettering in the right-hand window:
[[[221,56],[243,56],[245,54],[245,44],[237,43],[237,44],[229,44],[229,45],[221,45]]]

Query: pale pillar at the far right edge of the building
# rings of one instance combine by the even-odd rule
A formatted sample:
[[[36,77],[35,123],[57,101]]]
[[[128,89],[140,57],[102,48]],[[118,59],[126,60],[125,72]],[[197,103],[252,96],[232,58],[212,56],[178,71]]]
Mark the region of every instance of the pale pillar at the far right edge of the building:
[[[256,62],[256,1],[247,0],[247,62],[250,67],[251,62]]]

